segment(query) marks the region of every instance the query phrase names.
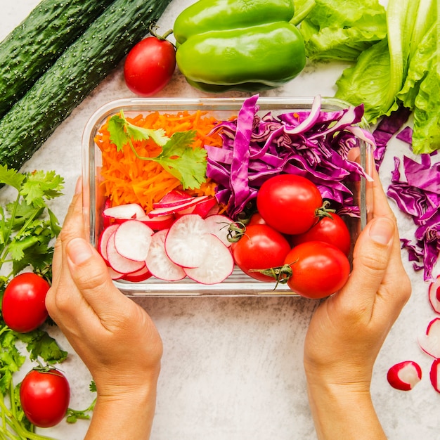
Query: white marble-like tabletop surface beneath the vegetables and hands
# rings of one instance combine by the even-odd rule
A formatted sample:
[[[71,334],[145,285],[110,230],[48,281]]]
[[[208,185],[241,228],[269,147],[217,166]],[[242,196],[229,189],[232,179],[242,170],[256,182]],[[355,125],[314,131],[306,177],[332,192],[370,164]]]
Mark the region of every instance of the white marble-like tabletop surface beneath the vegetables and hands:
[[[30,13],[38,0],[1,0],[0,39]],[[174,0],[158,23],[172,27],[176,15],[192,0]],[[308,65],[285,87],[264,96],[332,96],[344,65]],[[230,93],[232,95],[232,93]],[[240,96],[240,93],[235,93]],[[122,66],[105,79],[25,164],[25,169],[55,169],[65,177],[63,198],[54,206],[65,215],[81,173],[82,131],[101,105],[131,97],[124,86]],[[159,96],[201,96],[176,73]],[[389,183],[394,155],[408,154],[394,141],[382,166]],[[2,191],[4,195],[4,190]],[[392,202],[401,235],[410,238],[413,224]],[[415,273],[405,251],[403,260],[413,283],[413,296],[393,326],[375,365],[372,392],[380,420],[390,440],[440,439],[440,394],[429,382],[431,358],[416,337],[434,312],[427,301],[427,284]],[[297,298],[176,298],[136,299],[153,317],[164,341],[153,440],[313,440],[316,439],[306,399],[302,347],[316,306]],[[70,351],[63,370],[72,384],[72,408],[86,408],[92,399],[90,375],[57,330],[51,330]],[[350,348],[347,347],[349,356]],[[422,366],[422,382],[410,392],[387,383],[388,368],[412,359]],[[23,372],[24,374],[24,372]],[[18,375],[17,380],[20,380]],[[133,422],[136,422],[134,420]],[[87,422],[62,422],[46,435],[63,440],[84,437]]]

